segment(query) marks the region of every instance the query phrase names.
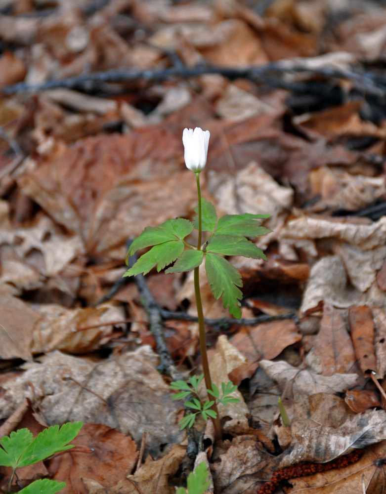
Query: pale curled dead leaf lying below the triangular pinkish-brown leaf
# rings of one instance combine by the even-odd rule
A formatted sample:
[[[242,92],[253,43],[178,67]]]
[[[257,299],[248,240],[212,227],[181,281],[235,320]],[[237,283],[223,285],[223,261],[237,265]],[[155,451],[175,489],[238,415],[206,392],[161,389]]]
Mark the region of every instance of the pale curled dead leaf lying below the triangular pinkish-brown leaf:
[[[291,388],[292,395],[311,396],[315,393],[342,393],[358,384],[356,374],[324,376],[311,371],[299,370],[285,361],[261,360],[260,368],[282,389]]]

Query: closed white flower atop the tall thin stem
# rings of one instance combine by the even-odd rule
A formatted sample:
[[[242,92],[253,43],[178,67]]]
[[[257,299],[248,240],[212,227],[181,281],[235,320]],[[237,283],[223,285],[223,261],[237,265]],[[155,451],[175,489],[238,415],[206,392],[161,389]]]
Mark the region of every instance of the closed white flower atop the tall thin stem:
[[[189,170],[201,171],[207,163],[208,144],[211,133],[200,127],[185,128],[182,132],[182,142],[185,148],[185,164]]]

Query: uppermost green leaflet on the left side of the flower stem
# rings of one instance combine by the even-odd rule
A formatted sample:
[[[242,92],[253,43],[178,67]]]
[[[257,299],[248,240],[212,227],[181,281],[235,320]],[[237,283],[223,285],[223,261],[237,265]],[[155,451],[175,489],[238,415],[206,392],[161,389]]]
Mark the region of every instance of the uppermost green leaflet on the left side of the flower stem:
[[[140,248],[164,244],[171,240],[183,240],[193,230],[193,223],[183,218],[168,219],[160,226],[147,226],[131,243],[128,257]]]

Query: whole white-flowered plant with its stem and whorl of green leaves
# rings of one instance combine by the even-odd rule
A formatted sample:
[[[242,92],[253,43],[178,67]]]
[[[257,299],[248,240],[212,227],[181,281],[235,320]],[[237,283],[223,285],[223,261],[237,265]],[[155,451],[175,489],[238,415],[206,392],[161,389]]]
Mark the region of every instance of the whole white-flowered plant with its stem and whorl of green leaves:
[[[157,271],[174,263],[166,273],[182,273],[194,270],[194,291],[196,295],[201,362],[205,384],[212,396],[212,378],[206,346],[204,312],[200,292],[199,267],[205,264],[209,286],[214,298],[222,298],[222,305],[237,319],[241,318],[241,299],[243,286],[241,274],[224,256],[242,255],[253,259],[265,259],[263,251],[247,237],[256,238],[266,235],[271,230],[260,225],[260,220],[269,218],[269,214],[226,214],[220,218],[212,203],[201,198],[200,173],[207,163],[210,132],[199,127],[185,128],[182,133],[185,164],[196,175],[197,183],[197,216],[193,221],[185,218],[173,218],[159,226],[147,226],[129,247],[129,256],[137,250],[151,247],[133,264],[124,276],[144,275],[157,266]],[[197,244],[190,244],[185,238],[197,230]],[[205,239],[203,238],[203,233]],[[212,391],[212,393],[211,393]],[[214,424],[215,435],[221,439],[221,426],[218,417],[216,400],[209,400],[209,408],[198,407],[194,402],[193,410],[209,415]],[[190,405],[191,406],[191,405]],[[201,407],[201,405],[200,405]],[[204,405],[203,405],[204,407]],[[210,413],[210,408],[214,413]],[[198,413],[198,412],[197,412]],[[193,420],[194,421],[194,420]]]

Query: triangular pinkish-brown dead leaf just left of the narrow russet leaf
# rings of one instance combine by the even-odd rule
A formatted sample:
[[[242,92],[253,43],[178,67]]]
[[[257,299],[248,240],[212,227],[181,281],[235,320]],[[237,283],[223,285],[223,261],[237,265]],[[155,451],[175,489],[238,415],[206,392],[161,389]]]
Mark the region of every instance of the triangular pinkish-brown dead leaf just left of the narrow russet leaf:
[[[350,335],[343,318],[344,313],[324,304],[320,329],[315,336],[308,363],[318,362],[318,371],[325,376],[359,371]]]

